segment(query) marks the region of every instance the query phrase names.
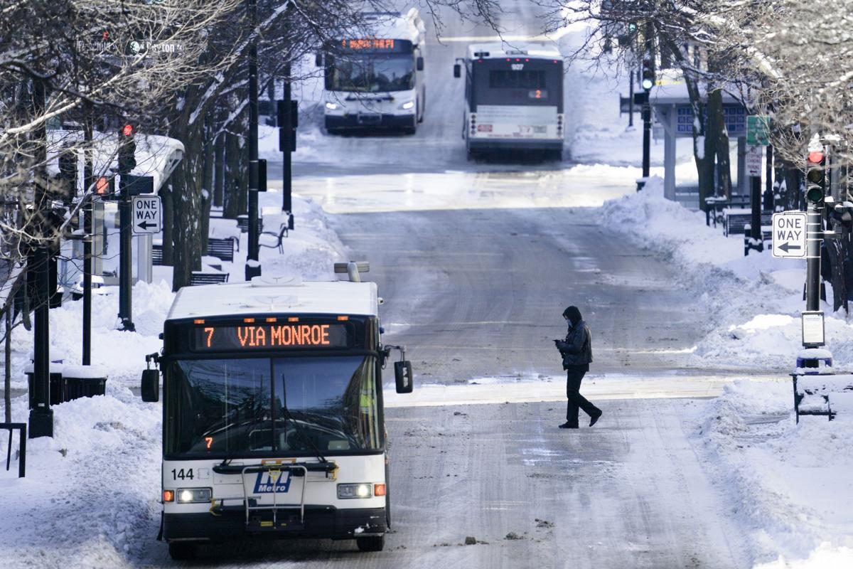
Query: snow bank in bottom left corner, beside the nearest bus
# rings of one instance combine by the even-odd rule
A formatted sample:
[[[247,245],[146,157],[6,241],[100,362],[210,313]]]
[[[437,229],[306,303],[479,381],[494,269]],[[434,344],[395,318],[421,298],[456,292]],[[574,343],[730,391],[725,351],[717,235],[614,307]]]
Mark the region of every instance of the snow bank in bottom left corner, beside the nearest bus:
[[[55,437],[27,442],[26,478],[0,472],[6,569],[138,566],[133,558],[151,549],[160,524],[162,409],[130,390],[112,391],[57,405]],[[26,421],[26,397],[13,409],[15,421]]]

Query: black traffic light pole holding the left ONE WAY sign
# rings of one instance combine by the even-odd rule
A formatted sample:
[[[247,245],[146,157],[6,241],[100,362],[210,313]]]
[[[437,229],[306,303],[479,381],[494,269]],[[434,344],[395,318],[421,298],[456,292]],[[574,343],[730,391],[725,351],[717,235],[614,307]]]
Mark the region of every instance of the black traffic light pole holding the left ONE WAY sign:
[[[119,318],[121,329],[135,332],[133,325],[133,227],[130,189],[127,175],[136,167],[136,142],[133,126],[125,125],[119,135]]]

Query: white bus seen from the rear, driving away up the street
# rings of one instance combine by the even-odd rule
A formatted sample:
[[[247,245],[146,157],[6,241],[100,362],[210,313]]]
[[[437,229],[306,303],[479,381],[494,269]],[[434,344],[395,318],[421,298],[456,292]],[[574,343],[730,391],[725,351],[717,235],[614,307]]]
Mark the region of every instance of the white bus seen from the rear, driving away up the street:
[[[465,69],[462,138],[468,158],[490,150],[533,150],[559,159],[565,133],[563,60],[546,44],[472,44]]]

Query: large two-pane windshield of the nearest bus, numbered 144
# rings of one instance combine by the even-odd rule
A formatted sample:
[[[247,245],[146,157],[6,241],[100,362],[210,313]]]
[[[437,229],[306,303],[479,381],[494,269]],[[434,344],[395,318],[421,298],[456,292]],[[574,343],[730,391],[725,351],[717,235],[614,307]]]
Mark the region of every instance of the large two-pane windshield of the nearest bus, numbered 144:
[[[177,360],[165,374],[167,455],[381,448],[374,357]]]

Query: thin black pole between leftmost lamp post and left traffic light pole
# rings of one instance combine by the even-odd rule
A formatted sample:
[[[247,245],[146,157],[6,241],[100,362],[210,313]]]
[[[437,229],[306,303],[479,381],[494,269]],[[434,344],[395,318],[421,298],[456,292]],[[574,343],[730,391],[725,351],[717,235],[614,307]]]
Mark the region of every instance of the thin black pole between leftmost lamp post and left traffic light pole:
[[[83,124],[83,187],[86,192],[92,189],[92,178],[94,171],[92,167],[92,131],[94,129],[92,120],[92,107],[90,103],[84,106]],[[92,239],[95,224],[92,217],[95,215],[95,192],[84,197],[86,205],[83,206],[83,365],[92,363]]]

